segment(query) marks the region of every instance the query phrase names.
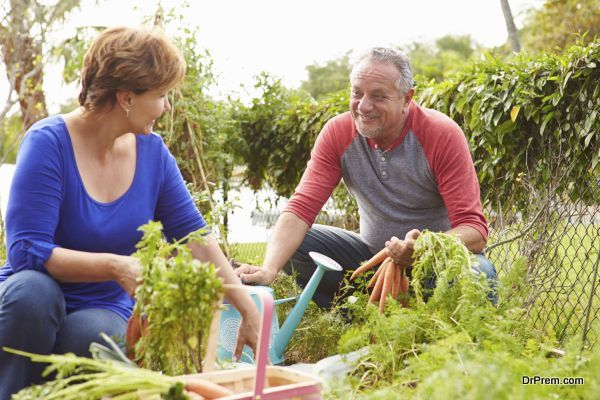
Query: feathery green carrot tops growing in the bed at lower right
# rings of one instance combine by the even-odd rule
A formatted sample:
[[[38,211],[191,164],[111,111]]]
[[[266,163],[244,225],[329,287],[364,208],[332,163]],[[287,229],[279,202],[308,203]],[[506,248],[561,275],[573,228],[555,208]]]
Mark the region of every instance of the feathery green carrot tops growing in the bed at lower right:
[[[428,272],[438,286],[427,303],[416,294],[409,308],[392,301],[385,314],[367,307],[353,321],[340,340],[340,352],[364,346],[369,352],[339,387],[369,399],[586,398],[592,393],[589,387],[521,384],[523,376],[538,375],[583,377],[587,385],[597,379],[600,360],[599,351],[581,354],[579,339],[567,345],[565,357],[548,358],[554,343],[522,318],[522,297],[514,295],[528,291],[522,260],[501,279],[496,308],[458,240],[427,232],[415,249],[414,292]],[[445,285],[448,280],[451,285]],[[353,300],[353,308],[364,309],[366,296]],[[341,390],[336,386],[333,393]]]

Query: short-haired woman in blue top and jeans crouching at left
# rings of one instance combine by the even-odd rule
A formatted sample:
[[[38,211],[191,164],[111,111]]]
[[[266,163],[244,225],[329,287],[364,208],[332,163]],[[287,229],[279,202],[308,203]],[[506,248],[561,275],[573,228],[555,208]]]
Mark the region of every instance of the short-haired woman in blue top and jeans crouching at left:
[[[0,269],[0,349],[89,355],[99,332],[124,336],[141,266],[137,230],[160,220],[169,240],[205,226],[175,158],[152,133],[185,62],[158,32],[104,31],[88,50],[80,108],[25,135],[8,205]],[[133,133],[131,133],[133,132]],[[214,238],[189,243],[226,283],[239,284]],[[238,342],[255,347],[258,312],[244,291]],[[0,351],[0,400],[39,381],[43,366]]]

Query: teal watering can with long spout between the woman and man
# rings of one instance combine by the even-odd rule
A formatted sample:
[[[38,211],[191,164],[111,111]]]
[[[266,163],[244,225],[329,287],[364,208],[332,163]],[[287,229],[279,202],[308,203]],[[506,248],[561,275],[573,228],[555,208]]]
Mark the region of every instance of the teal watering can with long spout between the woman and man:
[[[298,327],[308,303],[312,299],[317,286],[323,278],[323,274],[327,271],[341,271],[342,267],[332,260],[331,258],[324,256],[323,254],[310,252],[308,253],[313,259],[317,268],[311,276],[310,280],[306,284],[306,287],[296,297],[290,297],[287,299],[278,299],[274,301],[275,305],[286,303],[289,301],[296,300],[296,304],[288,314],[285,322],[279,327],[279,320],[277,313],[273,313],[273,320],[271,323],[271,335],[269,343],[269,359],[272,364],[283,364],[284,352],[287,347],[294,331]],[[273,295],[273,289],[268,286],[254,286],[255,289],[263,290],[268,292],[271,296]],[[256,303],[259,312],[262,313],[262,302],[259,296],[255,293],[251,294],[252,299]],[[237,333],[240,327],[241,317],[237,310],[230,304],[224,303],[224,309],[221,311],[221,328],[219,332],[219,340],[217,345],[217,359],[219,360],[231,360],[235,345],[237,342]],[[246,346],[242,351],[240,358],[241,362],[253,363],[254,355],[252,350]]]

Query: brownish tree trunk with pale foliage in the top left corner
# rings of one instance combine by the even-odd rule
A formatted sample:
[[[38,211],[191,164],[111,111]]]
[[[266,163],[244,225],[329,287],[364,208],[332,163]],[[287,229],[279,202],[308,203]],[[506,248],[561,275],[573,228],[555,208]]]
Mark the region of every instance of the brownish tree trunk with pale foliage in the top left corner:
[[[79,0],[57,0],[48,5],[41,1],[10,0],[0,14],[0,55],[9,83],[8,98],[0,121],[18,102],[23,127],[47,115],[42,91],[43,67],[51,49],[44,48],[46,34],[79,6]]]

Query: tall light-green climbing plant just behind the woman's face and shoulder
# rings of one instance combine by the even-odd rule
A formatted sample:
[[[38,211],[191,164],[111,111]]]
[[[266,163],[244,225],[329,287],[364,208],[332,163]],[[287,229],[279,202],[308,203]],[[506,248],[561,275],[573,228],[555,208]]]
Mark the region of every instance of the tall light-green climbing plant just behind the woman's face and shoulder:
[[[227,213],[232,208],[228,192],[233,167],[241,163],[236,157],[242,141],[233,115],[238,103],[208,95],[215,85],[212,58],[198,48],[198,32],[183,26],[175,42],[186,60],[185,80],[171,93],[172,109],[157,121],[156,131],[177,159],[199,209],[227,253]],[[219,200],[215,191],[221,193]]]

